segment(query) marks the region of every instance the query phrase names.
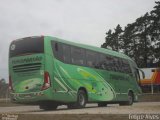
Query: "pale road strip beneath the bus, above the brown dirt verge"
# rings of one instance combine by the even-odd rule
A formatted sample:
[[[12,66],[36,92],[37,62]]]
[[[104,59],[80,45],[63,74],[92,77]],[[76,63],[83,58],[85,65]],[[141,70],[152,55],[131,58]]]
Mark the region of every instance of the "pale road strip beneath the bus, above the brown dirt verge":
[[[39,106],[0,107],[0,114],[160,114],[160,102],[139,102],[132,106],[109,104],[107,107],[97,107],[97,104],[87,104],[84,109],[67,109],[59,106],[57,110],[44,111]]]

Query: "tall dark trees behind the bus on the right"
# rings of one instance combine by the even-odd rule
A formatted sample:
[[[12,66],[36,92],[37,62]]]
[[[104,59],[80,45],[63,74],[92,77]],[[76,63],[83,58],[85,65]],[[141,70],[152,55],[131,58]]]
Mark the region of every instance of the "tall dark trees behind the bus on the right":
[[[108,30],[103,48],[112,49],[130,56],[139,67],[160,64],[160,2],[155,2],[150,13],[137,18],[124,30],[118,24]]]

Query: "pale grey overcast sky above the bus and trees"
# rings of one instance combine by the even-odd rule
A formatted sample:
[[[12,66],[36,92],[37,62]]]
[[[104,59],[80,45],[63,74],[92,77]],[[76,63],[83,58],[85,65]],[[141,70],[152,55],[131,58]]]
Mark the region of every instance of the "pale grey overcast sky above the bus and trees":
[[[12,40],[50,35],[100,47],[105,33],[150,12],[155,0],[0,0],[0,79]]]

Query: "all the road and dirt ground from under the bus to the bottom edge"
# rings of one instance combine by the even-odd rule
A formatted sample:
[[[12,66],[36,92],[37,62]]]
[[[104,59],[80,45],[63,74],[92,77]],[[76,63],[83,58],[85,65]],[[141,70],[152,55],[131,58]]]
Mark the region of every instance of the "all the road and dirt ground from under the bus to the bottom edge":
[[[160,119],[160,102],[138,102],[132,106],[109,104],[107,107],[97,107],[97,104],[87,104],[84,109],[67,109],[59,106],[57,110],[44,111],[38,106],[0,107],[0,120],[128,120],[129,117],[158,115]],[[147,119],[150,120],[150,119]]]

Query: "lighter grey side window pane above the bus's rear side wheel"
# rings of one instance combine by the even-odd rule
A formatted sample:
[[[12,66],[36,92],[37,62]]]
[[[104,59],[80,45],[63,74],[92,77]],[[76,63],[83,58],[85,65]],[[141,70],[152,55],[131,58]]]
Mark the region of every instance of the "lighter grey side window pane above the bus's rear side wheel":
[[[71,63],[85,65],[85,50],[78,47],[71,47]]]

